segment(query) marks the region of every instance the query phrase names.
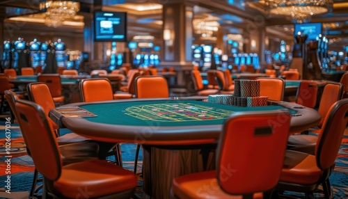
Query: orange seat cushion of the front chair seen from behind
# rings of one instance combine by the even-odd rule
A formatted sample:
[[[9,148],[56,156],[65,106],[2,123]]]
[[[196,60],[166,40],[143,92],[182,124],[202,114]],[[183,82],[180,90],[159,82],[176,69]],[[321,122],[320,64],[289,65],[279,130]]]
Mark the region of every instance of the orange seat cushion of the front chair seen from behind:
[[[217,180],[216,171],[210,170],[176,177],[172,186],[173,194],[178,198],[241,198],[223,191]],[[262,193],[255,193],[253,198],[262,198]]]

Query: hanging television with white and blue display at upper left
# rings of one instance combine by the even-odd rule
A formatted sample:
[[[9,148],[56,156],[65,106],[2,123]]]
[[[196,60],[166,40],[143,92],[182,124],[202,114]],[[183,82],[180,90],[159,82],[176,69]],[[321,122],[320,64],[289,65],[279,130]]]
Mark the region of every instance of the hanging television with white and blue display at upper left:
[[[126,42],[127,13],[95,11],[94,30],[96,42]]]

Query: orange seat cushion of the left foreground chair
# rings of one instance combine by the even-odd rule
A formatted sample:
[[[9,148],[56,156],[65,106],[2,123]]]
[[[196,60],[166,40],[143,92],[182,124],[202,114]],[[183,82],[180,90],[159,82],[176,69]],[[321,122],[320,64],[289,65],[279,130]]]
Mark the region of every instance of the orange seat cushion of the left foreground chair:
[[[54,189],[68,198],[86,197],[81,193],[88,194],[88,198],[97,198],[134,189],[135,186],[134,173],[102,160],[63,166],[61,177],[54,182]]]

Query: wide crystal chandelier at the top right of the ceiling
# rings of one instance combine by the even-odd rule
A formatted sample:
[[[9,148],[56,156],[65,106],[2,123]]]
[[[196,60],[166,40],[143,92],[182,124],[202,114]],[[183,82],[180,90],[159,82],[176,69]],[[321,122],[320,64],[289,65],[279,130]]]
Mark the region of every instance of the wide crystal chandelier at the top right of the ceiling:
[[[264,0],[270,15],[291,17],[292,22],[308,22],[313,15],[322,15],[332,9],[333,0]]]

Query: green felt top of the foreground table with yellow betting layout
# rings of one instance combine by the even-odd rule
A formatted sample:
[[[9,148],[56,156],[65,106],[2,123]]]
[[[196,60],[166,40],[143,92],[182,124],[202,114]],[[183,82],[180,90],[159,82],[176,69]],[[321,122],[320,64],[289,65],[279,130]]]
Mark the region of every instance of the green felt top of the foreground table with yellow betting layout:
[[[236,111],[283,109],[290,111],[290,114],[296,113],[283,106],[239,107],[196,100],[101,103],[88,104],[81,108],[97,115],[86,118],[90,122],[152,127],[222,125],[226,118]]]

